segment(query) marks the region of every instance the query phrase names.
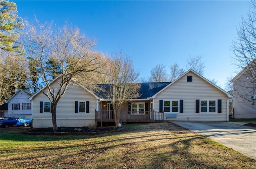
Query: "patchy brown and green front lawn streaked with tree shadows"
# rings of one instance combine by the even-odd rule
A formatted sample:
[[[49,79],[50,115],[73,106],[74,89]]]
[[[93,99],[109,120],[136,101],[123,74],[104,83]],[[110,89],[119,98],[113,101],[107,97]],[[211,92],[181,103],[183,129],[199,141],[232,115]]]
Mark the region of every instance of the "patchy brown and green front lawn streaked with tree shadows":
[[[0,167],[84,169],[256,169],[256,161],[172,123],[123,125],[97,135],[25,135],[1,129]]]

